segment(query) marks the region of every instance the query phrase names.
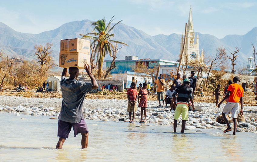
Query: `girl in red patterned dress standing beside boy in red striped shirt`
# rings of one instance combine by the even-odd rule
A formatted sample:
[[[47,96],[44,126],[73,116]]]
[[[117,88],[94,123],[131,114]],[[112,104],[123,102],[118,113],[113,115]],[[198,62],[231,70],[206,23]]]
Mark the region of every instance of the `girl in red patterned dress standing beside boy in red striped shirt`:
[[[143,120],[143,111],[146,118],[147,94],[148,94],[146,87],[147,87],[147,83],[143,83],[143,88],[141,88],[138,93],[138,103],[139,103],[138,107],[141,107],[140,123],[142,122],[145,123],[145,119]],[[140,101],[139,101],[139,98],[140,98]]]

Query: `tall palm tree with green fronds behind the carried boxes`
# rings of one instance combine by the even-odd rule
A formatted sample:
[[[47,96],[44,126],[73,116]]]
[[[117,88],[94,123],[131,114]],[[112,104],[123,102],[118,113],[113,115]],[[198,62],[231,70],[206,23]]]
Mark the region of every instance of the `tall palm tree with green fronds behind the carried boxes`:
[[[97,59],[98,79],[101,78],[102,65],[103,65],[103,60],[105,58],[105,55],[108,53],[110,54],[112,52],[111,48],[114,49],[112,43],[127,45],[120,41],[111,40],[111,38],[114,36],[114,34],[111,34],[110,32],[115,27],[115,25],[117,25],[118,23],[120,23],[122,21],[121,20],[121,21],[117,22],[111,28],[110,25],[111,25],[112,21],[114,20],[113,17],[111,18],[111,20],[109,21],[109,23],[107,25],[105,22],[105,18],[103,18],[102,20],[92,22],[91,25],[94,26],[93,31],[91,31],[90,33],[87,33],[86,35],[81,34],[82,39],[86,39],[86,38],[93,39],[94,41],[92,42],[92,44],[94,44],[96,42],[95,52],[97,52],[97,58],[98,58]]]

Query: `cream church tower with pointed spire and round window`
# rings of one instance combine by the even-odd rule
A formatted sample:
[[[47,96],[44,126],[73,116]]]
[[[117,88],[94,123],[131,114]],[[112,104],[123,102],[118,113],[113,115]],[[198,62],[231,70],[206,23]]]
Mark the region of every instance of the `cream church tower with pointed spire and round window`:
[[[181,38],[181,44],[180,44],[180,53],[182,52],[183,48],[183,35]],[[187,23],[187,29],[186,29],[186,37],[185,37],[185,48],[184,52],[182,54],[182,65],[185,65],[186,62],[189,64],[191,61],[200,61],[201,57],[199,54],[199,36],[197,34],[195,38],[195,31],[193,27],[193,18],[192,18],[192,8],[190,6],[189,11],[189,18]]]

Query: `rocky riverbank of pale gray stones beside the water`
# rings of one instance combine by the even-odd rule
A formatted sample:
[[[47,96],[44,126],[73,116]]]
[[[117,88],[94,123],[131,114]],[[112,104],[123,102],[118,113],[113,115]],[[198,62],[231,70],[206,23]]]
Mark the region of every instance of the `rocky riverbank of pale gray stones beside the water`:
[[[83,114],[86,119],[102,121],[129,121],[127,110],[127,100],[117,99],[85,99],[83,103]],[[22,98],[15,96],[0,96],[0,112],[9,112],[19,116],[27,115],[47,115],[55,119],[61,109],[61,98]],[[171,125],[174,122],[174,112],[169,111],[169,107],[156,107],[157,101],[148,101],[146,124]],[[222,107],[225,104],[222,104]],[[195,103],[195,106],[203,106],[202,111],[189,111],[189,120],[186,121],[186,130],[195,128],[215,128],[226,129],[226,124],[222,124],[222,108],[215,107],[214,103]],[[257,107],[244,106],[244,117],[238,123],[237,131],[257,133]],[[231,116],[231,115],[229,115]],[[135,116],[135,123],[140,121],[140,107]],[[178,121],[182,123],[181,117]],[[233,127],[233,123],[230,124]],[[137,126],[140,126],[137,125]]]

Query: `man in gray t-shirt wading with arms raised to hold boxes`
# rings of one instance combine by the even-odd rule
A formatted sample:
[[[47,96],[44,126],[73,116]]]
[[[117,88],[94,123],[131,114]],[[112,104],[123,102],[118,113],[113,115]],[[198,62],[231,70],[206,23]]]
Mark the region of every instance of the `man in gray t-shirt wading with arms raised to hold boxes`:
[[[62,108],[58,117],[58,134],[60,137],[56,145],[57,148],[62,148],[62,145],[66,138],[69,137],[71,128],[73,128],[74,136],[79,133],[82,135],[81,146],[83,148],[88,147],[88,127],[82,114],[82,105],[86,92],[92,89],[98,88],[98,84],[91,73],[89,65],[85,64],[85,70],[88,73],[91,83],[84,83],[82,81],[76,81],[78,78],[78,68],[70,67],[70,78],[67,77],[67,68],[62,71],[62,78],[60,81],[62,91]]]

